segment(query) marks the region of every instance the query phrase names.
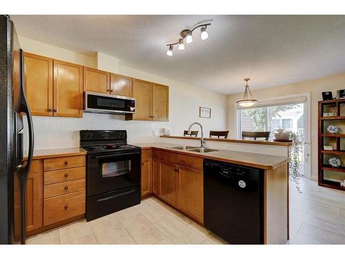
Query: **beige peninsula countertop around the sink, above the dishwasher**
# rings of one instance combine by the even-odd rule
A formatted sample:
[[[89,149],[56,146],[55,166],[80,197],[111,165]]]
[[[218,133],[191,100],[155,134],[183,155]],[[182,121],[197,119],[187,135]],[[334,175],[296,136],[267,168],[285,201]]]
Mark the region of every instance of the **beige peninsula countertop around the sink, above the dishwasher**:
[[[195,153],[193,151],[186,150],[175,150],[169,147],[181,146],[181,144],[171,144],[164,142],[154,142],[154,143],[139,143],[133,144],[135,146],[140,146],[142,149],[157,148],[161,150],[166,150],[174,153],[188,153],[188,155],[193,155],[195,157],[209,158],[212,160],[218,160],[223,162],[229,162],[233,164],[242,164],[245,166],[253,166],[259,169],[275,169],[288,162],[287,157],[277,156],[277,155],[262,155],[257,153],[246,153],[239,151],[230,150],[219,150],[210,153]]]

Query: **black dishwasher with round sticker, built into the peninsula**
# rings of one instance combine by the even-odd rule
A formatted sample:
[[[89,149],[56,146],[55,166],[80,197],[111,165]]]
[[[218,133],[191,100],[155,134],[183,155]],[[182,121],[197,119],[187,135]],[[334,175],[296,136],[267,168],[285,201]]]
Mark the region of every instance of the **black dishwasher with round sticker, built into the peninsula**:
[[[264,171],[204,160],[204,224],[230,244],[264,244]]]

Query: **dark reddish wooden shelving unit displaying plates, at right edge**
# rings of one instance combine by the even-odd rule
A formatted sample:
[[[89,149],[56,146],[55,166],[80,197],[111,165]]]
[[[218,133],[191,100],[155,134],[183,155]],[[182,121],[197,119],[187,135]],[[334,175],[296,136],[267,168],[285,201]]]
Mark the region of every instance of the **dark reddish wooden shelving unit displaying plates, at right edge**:
[[[324,112],[332,112],[334,116],[323,117]],[[339,167],[333,167],[327,163],[328,157],[338,157],[340,160],[345,161],[345,99],[333,99],[328,101],[319,101],[319,186],[328,187],[331,189],[338,189],[345,191],[345,187],[340,185],[339,175],[342,178],[344,174],[345,179],[345,163]],[[326,126],[328,124],[337,124],[337,126],[344,129],[339,131],[339,133],[332,134],[326,131]],[[344,141],[344,147],[342,148],[342,142]],[[333,150],[324,150],[324,145],[335,145]],[[328,174],[337,174],[336,178],[325,178],[325,172]],[[333,176],[334,177],[334,176]]]

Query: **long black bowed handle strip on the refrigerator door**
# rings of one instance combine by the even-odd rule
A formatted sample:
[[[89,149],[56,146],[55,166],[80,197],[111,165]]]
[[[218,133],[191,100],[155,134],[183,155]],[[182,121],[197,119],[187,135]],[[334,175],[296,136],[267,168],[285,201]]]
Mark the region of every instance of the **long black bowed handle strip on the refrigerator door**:
[[[32,157],[34,153],[34,129],[32,124],[32,117],[30,108],[25,95],[25,78],[24,78],[24,52],[20,50],[21,56],[21,111],[26,113],[28,119],[28,131],[29,131],[29,151],[28,162],[26,166],[22,166],[19,170],[21,173],[21,243],[26,243],[26,182],[28,180],[28,174],[30,172]]]

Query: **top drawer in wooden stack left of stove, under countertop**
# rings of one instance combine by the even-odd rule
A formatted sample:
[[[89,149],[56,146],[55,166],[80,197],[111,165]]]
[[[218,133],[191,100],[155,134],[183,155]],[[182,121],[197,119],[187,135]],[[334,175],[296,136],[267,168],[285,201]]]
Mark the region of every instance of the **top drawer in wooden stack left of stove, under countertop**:
[[[85,166],[85,155],[47,158],[44,160],[44,171],[67,169],[78,166]]]

